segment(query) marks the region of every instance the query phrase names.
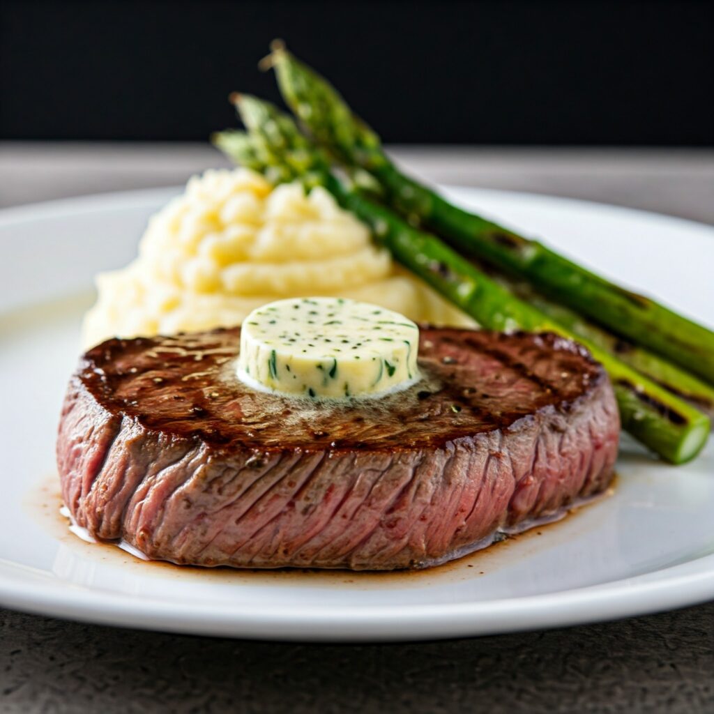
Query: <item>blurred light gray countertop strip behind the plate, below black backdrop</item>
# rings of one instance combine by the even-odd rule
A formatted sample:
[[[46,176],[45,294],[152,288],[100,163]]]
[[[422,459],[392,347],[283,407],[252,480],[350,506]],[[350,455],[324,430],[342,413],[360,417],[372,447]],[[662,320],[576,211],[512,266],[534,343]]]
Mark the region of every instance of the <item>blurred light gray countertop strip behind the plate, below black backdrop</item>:
[[[585,198],[714,223],[714,150],[401,146],[392,153],[438,183]],[[203,144],[0,142],[0,207],[171,186],[209,166],[228,161]]]

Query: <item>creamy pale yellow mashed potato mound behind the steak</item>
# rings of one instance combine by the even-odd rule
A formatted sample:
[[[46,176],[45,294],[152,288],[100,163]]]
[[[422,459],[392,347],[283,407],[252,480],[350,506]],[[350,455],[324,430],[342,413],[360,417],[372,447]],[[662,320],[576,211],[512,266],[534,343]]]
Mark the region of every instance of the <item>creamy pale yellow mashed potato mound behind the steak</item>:
[[[231,326],[280,298],[336,296],[415,321],[473,321],[401,270],[322,188],[273,188],[246,169],[211,170],[149,221],[139,257],[100,273],[84,344]]]

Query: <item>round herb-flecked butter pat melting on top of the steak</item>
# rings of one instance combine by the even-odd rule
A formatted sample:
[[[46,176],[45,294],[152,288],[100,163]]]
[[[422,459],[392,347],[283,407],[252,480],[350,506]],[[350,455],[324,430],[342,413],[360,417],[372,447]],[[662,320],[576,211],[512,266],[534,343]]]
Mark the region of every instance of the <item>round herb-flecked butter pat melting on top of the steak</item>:
[[[418,344],[415,323],[376,305],[279,300],[243,321],[238,378],[288,396],[376,397],[418,381]]]

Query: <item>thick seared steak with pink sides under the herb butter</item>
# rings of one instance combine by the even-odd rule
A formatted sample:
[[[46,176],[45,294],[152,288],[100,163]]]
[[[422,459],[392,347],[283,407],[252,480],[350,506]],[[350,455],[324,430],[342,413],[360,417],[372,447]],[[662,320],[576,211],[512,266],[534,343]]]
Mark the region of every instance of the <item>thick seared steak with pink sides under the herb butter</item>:
[[[79,526],[174,563],[422,568],[613,477],[613,390],[572,341],[424,327],[421,382],[329,403],[238,381],[239,337],[111,339],[81,358],[57,441]]]

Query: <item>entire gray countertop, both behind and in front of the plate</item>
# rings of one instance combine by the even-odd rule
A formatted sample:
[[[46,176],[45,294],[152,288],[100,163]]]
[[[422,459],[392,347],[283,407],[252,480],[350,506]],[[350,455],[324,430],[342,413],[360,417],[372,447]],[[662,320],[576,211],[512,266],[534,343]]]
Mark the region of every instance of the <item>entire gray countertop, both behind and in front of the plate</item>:
[[[714,223],[714,151],[411,147],[431,181]],[[182,183],[206,146],[0,143],[0,206]],[[149,633],[0,610],[0,712],[714,712],[714,603],[471,640],[314,645]]]

